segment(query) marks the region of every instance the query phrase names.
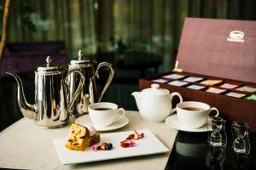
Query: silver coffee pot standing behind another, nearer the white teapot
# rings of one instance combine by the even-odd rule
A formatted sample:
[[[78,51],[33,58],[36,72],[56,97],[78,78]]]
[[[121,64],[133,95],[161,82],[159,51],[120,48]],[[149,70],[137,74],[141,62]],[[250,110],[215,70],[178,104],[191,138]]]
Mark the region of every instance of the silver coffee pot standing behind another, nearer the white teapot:
[[[73,105],[73,116],[82,116],[88,113],[88,105],[99,102],[102,100],[102,96],[105,94],[108,89],[109,84],[113,79],[113,66],[108,62],[102,62],[96,65],[96,61],[90,59],[82,59],[82,51],[79,50],[79,59],[74,59],[68,65],[68,69],[79,69],[84,75],[85,82],[83,89],[79,93],[79,97],[75,100]],[[102,67],[108,67],[109,76],[108,80],[102,88],[102,93],[98,96],[96,87],[96,77],[99,78],[98,71]],[[96,71],[95,71],[96,68]],[[78,87],[79,77],[76,74],[70,74],[68,77],[68,83],[70,87],[68,98],[69,100],[73,99],[74,91]]]

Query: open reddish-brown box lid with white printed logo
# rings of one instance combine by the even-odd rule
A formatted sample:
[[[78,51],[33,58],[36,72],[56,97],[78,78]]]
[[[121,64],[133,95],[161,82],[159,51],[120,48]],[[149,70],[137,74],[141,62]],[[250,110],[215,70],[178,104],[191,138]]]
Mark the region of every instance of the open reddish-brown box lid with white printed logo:
[[[186,18],[177,61],[183,71],[256,83],[256,21]]]

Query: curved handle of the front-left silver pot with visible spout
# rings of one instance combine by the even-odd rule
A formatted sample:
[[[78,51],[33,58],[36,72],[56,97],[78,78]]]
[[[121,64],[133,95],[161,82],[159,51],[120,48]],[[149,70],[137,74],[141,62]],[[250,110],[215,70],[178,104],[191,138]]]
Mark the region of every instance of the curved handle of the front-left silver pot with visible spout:
[[[75,99],[77,99],[77,97],[79,96],[79,93],[81,92],[83,86],[84,86],[84,81],[85,81],[85,78],[84,78],[84,75],[81,71],[79,71],[78,69],[72,69],[70,71],[67,71],[67,77],[71,74],[71,73],[77,73],[79,74],[80,76],[80,82],[79,82],[79,86],[78,88],[76,89],[75,93],[73,94],[73,99],[71,99],[70,103],[67,105],[67,111],[70,112],[71,109],[72,109],[72,106],[73,106],[73,103],[75,101]],[[65,78],[66,81],[67,81],[67,77]]]

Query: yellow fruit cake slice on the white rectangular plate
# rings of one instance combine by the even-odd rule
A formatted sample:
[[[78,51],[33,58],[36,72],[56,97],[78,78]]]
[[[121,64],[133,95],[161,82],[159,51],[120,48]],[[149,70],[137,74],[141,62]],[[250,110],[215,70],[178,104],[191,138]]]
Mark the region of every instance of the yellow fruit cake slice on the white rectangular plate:
[[[87,147],[99,142],[100,134],[96,133],[94,127],[72,124],[65,146],[69,150],[85,150]]]

